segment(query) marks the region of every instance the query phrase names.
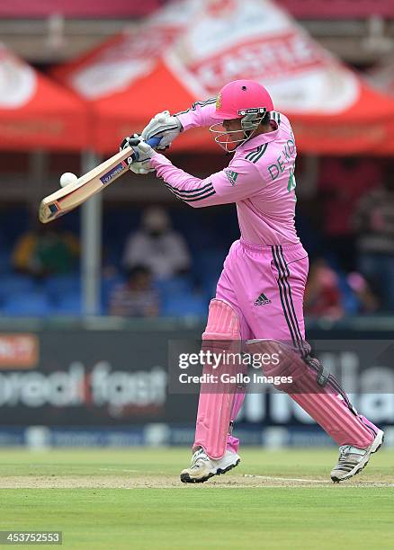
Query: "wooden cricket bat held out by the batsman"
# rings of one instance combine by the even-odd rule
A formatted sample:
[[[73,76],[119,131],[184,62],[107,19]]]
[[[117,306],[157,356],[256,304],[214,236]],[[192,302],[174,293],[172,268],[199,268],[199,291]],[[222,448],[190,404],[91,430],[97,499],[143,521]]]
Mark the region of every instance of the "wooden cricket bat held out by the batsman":
[[[155,147],[159,141],[160,138],[152,137],[148,140],[148,144]],[[129,156],[135,160],[132,147],[123,149],[120,153],[113,155],[90,172],[82,175],[76,182],[70,183],[42,199],[39,211],[40,222],[48,224],[48,222],[74,210],[95,193],[103,191],[107,185],[115,182],[123,173],[129,170],[129,164],[127,164]]]

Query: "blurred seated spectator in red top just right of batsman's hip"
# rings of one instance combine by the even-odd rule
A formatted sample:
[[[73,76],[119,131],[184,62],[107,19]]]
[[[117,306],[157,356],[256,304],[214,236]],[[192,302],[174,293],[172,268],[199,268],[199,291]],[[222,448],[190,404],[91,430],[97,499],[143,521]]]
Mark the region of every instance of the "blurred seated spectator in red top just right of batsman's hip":
[[[312,263],[305,290],[304,310],[306,315],[328,317],[336,320],[344,316],[339,277],[324,258]]]

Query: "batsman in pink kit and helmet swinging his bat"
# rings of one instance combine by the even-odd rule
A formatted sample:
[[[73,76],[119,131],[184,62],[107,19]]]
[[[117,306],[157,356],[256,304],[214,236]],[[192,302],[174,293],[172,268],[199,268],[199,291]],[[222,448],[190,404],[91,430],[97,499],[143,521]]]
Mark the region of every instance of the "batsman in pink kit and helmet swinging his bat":
[[[165,149],[195,127],[210,127],[215,141],[232,154],[228,168],[204,180],[176,168],[146,143],[161,137],[159,148]],[[264,374],[291,379],[279,389],[339,446],[331,479],[341,482],[358,474],[384,434],[354,409],[336,378],[310,357],[305,342],[302,304],[309,260],[294,226],[296,145],[289,120],[273,110],[264,86],[236,80],[218,97],[195,102],[187,111],[158,113],[141,137],[126,137],[121,147],[129,143],[139,155],[130,170],[156,171],[177,199],[194,208],[236,204],[240,238],[224,262],[202,341],[246,342],[251,353],[276,353],[280,360],[265,366]],[[231,429],[244,396],[242,391],[201,392],[192,463],[181,473],[184,483],[201,483],[237,466],[239,440]]]

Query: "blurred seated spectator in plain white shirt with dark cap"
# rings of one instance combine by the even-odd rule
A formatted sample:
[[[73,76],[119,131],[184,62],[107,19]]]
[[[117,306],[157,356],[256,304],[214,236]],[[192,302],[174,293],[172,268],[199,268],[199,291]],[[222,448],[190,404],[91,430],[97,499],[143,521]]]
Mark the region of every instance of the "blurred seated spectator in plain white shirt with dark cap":
[[[153,277],[165,279],[190,270],[190,253],[184,237],[171,228],[166,210],[152,207],[145,210],[138,231],[127,240],[123,266],[147,267]]]

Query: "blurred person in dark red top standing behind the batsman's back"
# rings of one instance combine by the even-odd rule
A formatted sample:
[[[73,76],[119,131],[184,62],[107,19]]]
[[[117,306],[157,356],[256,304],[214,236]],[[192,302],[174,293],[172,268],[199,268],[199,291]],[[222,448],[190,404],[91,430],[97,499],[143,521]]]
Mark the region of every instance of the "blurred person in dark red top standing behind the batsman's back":
[[[357,201],[381,179],[381,163],[363,157],[323,158],[319,190],[326,249],[345,271],[354,270],[352,217]]]

